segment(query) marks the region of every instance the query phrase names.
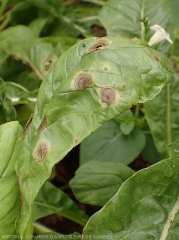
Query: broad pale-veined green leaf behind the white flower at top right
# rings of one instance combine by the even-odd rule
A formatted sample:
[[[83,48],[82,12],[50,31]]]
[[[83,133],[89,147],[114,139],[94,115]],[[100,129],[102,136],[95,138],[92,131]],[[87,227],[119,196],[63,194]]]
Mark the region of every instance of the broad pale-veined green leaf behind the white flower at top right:
[[[173,1],[174,2],[174,1]],[[172,39],[175,38],[176,30],[174,6],[168,0],[109,0],[102,8],[99,17],[107,30],[108,35],[124,35],[126,37],[138,37],[149,41],[154,32],[148,31],[145,20],[151,26],[160,25],[169,32]],[[171,45],[165,40],[157,49],[167,52]]]

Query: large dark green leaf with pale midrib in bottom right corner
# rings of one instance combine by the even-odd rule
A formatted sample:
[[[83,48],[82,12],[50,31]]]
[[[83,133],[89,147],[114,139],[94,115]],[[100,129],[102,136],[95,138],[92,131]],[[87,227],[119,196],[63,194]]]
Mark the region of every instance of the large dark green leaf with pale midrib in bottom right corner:
[[[178,239],[179,161],[170,155],[129,178],[90,218],[84,239]]]

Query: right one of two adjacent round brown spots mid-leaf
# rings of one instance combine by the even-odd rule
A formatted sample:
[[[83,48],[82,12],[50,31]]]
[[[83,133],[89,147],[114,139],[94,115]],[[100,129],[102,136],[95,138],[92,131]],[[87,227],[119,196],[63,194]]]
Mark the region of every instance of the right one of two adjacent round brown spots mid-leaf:
[[[111,105],[116,100],[116,91],[114,88],[102,88],[101,101],[108,105]]]

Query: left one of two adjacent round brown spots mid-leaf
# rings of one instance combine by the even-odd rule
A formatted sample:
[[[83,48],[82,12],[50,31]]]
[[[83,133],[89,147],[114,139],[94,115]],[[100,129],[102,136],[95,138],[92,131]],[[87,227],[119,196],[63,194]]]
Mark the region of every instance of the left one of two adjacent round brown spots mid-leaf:
[[[90,73],[82,72],[75,77],[75,89],[82,90],[92,86],[93,77]]]

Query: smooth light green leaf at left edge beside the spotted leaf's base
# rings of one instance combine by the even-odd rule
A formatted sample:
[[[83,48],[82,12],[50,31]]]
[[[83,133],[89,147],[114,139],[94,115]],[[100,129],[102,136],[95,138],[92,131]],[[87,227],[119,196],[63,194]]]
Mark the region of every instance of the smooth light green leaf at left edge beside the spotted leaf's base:
[[[17,139],[22,129],[18,122],[0,126],[0,237],[15,234],[15,221],[19,213],[20,192],[14,165],[17,161]]]

